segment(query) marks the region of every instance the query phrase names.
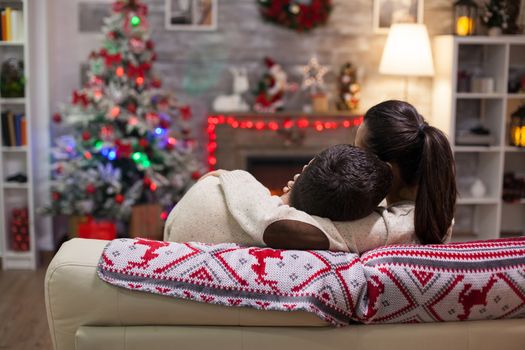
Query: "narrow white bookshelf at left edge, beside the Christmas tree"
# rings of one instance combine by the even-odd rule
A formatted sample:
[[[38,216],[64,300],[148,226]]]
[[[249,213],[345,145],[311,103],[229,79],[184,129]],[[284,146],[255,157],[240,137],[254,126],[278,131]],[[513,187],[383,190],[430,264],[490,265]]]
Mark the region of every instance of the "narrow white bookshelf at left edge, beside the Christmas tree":
[[[26,116],[26,146],[4,146],[0,148],[0,253],[3,269],[35,269],[37,266],[37,247],[34,228],[34,196],[32,171],[32,127],[31,97],[29,95],[30,45],[29,43],[29,0],[0,0],[0,7],[12,7],[23,11],[24,40],[18,42],[0,41],[0,62],[15,57],[24,62],[26,78],[25,97],[0,97],[0,112],[11,110]],[[1,128],[1,124],[0,124]],[[2,137],[0,133],[0,137]],[[23,173],[27,182],[8,182],[6,178]],[[27,208],[29,221],[29,250],[16,251],[11,245],[10,220],[14,208]]]

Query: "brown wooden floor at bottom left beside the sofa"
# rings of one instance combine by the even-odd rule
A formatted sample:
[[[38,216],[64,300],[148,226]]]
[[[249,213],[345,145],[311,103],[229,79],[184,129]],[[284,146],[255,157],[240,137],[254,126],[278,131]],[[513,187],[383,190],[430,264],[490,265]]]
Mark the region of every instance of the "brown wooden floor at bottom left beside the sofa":
[[[47,263],[36,271],[0,268],[0,350],[53,348],[44,304],[46,268]]]

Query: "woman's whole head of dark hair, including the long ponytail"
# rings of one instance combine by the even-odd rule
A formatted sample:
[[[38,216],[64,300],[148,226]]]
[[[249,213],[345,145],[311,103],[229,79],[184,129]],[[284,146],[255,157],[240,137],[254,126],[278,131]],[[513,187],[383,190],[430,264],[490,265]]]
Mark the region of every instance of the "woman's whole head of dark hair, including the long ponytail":
[[[415,233],[422,244],[442,243],[454,217],[457,189],[450,144],[409,103],[385,101],[364,117],[364,145],[399,167],[406,186],[417,186]]]

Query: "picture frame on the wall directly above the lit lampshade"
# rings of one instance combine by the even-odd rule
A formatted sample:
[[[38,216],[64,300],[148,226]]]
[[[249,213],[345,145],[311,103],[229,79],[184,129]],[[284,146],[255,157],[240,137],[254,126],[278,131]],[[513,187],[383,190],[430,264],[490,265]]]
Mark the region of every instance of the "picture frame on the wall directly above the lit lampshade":
[[[374,33],[387,34],[393,23],[423,23],[424,0],[374,0]]]

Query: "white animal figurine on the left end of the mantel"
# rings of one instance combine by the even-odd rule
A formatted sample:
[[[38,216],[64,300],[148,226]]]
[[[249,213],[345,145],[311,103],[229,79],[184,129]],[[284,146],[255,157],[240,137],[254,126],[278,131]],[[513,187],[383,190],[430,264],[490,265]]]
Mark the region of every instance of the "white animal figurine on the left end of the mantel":
[[[213,101],[213,109],[217,112],[245,112],[250,108],[242,94],[250,89],[246,68],[230,67],[233,76],[233,95],[220,95]]]

